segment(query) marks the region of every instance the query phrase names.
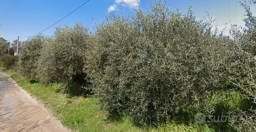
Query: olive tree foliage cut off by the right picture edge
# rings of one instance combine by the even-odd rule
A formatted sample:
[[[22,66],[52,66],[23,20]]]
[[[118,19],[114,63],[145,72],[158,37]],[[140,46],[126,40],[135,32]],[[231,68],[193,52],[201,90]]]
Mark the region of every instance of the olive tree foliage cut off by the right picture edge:
[[[246,11],[246,18],[244,18],[246,27],[242,32],[235,31],[234,36],[236,36],[237,43],[247,52],[245,56],[249,59],[243,61],[247,65],[240,66],[240,68],[243,67],[245,70],[238,68],[233,80],[235,80],[237,91],[250,100],[253,107],[247,112],[238,109],[237,113],[242,115],[242,121],[232,122],[231,125],[238,131],[256,131],[256,16],[251,12],[251,7],[256,7],[256,0],[247,0],[241,5]]]

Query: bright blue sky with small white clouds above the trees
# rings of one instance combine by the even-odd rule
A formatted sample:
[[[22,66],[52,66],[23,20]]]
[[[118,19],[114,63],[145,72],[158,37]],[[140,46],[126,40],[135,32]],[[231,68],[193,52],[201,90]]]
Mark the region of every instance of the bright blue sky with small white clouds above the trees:
[[[17,36],[30,36],[44,30],[72,10],[76,9],[86,0],[0,0],[0,37],[7,41],[14,41]],[[223,27],[225,23],[243,25],[244,10],[237,0],[166,0],[166,6],[173,10],[186,13],[189,5],[200,19],[206,16],[206,11],[215,18],[214,25]],[[105,19],[105,14],[113,11],[116,14],[128,14],[136,6],[143,10],[150,8],[150,2],[155,0],[91,0],[75,11],[60,23],[44,31],[44,35],[52,35],[56,26],[74,25],[83,23],[92,28],[95,22]],[[238,0],[239,2],[239,0]],[[237,6],[236,6],[237,5]],[[236,11],[237,7],[237,11]],[[255,10],[254,10],[255,11]],[[235,16],[236,12],[236,16]],[[94,20],[93,20],[94,18]],[[21,38],[21,41],[26,39]]]

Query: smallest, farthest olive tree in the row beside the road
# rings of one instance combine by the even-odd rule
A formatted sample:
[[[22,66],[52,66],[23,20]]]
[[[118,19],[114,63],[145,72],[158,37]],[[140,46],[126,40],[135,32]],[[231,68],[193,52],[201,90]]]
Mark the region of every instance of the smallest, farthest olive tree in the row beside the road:
[[[40,57],[42,43],[45,37],[42,35],[34,36],[23,43],[19,55],[18,71],[24,77],[36,79],[37,61]]]

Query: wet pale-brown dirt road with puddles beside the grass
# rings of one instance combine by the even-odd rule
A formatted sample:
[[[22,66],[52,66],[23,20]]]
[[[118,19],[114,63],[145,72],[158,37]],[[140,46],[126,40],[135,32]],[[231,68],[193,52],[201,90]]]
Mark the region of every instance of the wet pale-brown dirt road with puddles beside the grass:
[[[0,132],[69,131],[34,98],[0,71]]]

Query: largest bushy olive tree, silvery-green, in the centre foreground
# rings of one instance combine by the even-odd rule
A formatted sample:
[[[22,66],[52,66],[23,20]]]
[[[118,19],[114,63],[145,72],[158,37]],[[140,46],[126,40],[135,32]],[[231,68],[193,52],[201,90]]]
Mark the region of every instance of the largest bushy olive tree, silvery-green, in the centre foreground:
[[[165,9],[163,2],[130,16],[107,16],[84,67],[102,108],[151,125],[187,109],[214,112],[207,100],[230,89],[230,63],[243,51],[212,33],[211,20],[196,20],[191,8],[188,14]]]

